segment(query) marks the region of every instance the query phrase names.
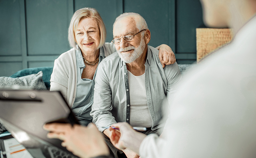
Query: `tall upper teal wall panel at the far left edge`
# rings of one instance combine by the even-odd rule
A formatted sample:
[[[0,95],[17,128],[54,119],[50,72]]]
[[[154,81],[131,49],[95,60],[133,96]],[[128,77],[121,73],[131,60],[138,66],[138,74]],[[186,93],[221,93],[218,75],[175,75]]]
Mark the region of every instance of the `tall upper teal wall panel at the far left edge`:
[[[0,56],[21,55],[19,1],[0,1],[0,23]]]

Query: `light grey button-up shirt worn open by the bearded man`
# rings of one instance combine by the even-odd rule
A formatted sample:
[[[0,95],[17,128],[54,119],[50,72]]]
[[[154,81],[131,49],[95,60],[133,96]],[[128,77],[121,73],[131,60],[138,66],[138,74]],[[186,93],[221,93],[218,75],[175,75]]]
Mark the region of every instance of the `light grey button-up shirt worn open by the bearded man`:
[[[145,63],[145,88],[147,105],[153,121],[152,130],[164,126],[162,105],[165,97],[172,99],[175,85],[181,79],[177,63],[162,68],[158,50],[148,46]],[[128,122],[130,95],[126,64],[115,52],[104,58],[95,77],[94,99],[90,115],[99,131],[116,122]]]

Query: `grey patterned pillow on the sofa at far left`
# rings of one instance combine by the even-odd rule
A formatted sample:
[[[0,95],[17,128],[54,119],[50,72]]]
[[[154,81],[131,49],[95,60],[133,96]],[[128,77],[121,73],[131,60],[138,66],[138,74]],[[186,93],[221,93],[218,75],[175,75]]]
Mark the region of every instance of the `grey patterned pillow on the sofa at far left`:
[[[34,89],[34,90],[47,90],[44,81],[42,80],[43,72],[39,71],[37,74],[11,78],[0,77],[0,90],[1,89]],[[0,134],[5,132],[6,128],[0,120]]]

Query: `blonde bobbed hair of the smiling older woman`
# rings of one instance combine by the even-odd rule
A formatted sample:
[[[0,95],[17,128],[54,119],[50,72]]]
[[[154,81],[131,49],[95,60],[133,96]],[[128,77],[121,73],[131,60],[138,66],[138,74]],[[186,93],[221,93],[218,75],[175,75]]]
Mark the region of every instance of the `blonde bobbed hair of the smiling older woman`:
[[[103,46],[103,44],[106,41],[106,27],[105,24],[103,22],[103,20],[101,19],[101,16],[99,14],[99,12],[94,9],[94,8],[82,8],[77,10],[71,20],[70,20],[70,24],[69,24],[69,28],[68,28],[68,42],[71,48],[76,48],[76,35],[75,35],[75,30],[78,26],[78,23],[85,18],[91,18],[97,21],[98,26],[99,26],[99,30],[100,30],[100,44],[98,46],[98,49],[100,47]],[[77,48],[76,48],[77,49]]]

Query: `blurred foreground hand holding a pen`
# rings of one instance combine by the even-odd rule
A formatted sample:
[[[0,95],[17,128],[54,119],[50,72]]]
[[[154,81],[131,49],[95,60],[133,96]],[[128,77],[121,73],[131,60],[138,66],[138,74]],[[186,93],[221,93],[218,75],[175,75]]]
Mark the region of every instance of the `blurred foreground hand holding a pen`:
[[[112,126],[119,130],[114,130],[111,128]],[[109,137],[111,143],[117,149],[125,151],[128,148],[139,154],[140,144],[147,135],[136,132],[127,122],[115,123],[112,126],[109,128],[111,131],[111,136]]]

